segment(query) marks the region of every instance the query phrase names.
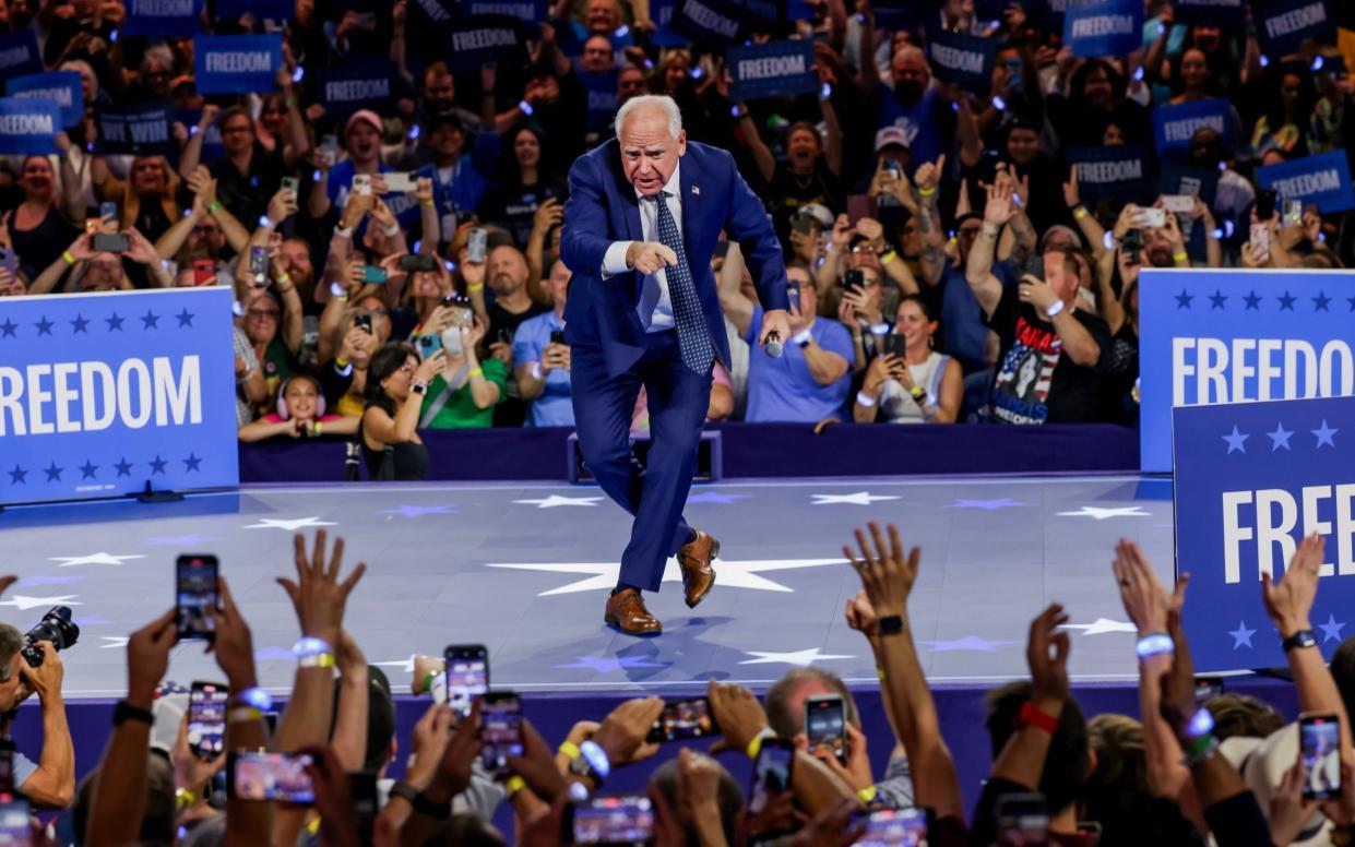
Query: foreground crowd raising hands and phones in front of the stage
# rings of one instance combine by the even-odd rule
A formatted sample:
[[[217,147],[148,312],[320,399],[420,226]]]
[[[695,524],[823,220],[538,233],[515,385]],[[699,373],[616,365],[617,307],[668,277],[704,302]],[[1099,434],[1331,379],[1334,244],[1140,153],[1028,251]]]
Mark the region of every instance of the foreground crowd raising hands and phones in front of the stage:
[[[988,697],[992,763],[967,812],[909,626],[923,556],[894,526],[875,523],[843,552],[862,581],[847,602],[847,623],[875,657],[893,735],[882,774],[870,755],[881,740],[863,733],[852,690],[814,665],[790,671],[762,699],[711,682],[703,702],[683,701],[667,718],[659,697],[634,698],[606,716],[577,716],[565,737],[547,740],[527,718],[491,721],[501,697],[467,695],[458,687],[470,679],[462,668],[453,674],[440,656],[417,656],[409,691],[431,702],[411,736],[397,737],[392,684],[346,625],[366,568],[346,568],[343,541],[331,548],[320,530],[313,545],[295,538],[295,579],[278,580],[301,638],[275,726],[266,711],[271,698],[257,687],[249,623],[220,580],[211,652],[229,702],[217,711],[225,716],[224,740],[206,753],[190,744],[183,688],[167,679],[173,608],[130,636],[126,698],[99,766],[79,785],[60,653],[38,642],[42,661],[30,664],[24,637],[0,625],[0,706],[8,714],[34,694],[42,703],[39,760],[12,753],[14,781],[34,810],[61,810],[47,827],[34,819],[31,843],[553,846],[593,843],[588,833],[607,831],[660,847],[920,844],[871,840],[871,827],[905,820],[915,821],[915,835],[925,825],[934,847],[1210,839],[1285,847],[1344,844],[1355,833],[1355,638],[1337,646],[1328,667],[1312,637],[1321,537],[1298,545],[1285,576],[1263,580],[1260,592],[1286,640],[1299,709],[1332,729],[1325,747],[1301,744],[1298,724],[1259,699],[1201,694],[1182,627],[1188,575],[1169,591],[1138,546],[1121,541],[1106,577],[1138,630],[1140,716],[1084,716],[1069,687],[1070,641],[1061,629],[1069,615],[1050,604],[1030,625],[1030,679]],[[839,703],[836,722],[806,725],[818,720],[806,717],[806,705],[825,699]],[[705,752],[698,741],[671,740],[684,722],[698,729],[691,735]],[[499,745],[493,756],[485,755],[491,745]],[[771,748],[785,751],[779,768],[762,764]],[[224,786],[217,777],[237,751],[255,758],[241,755]],[[291,758],[270,770],[255,751]],[[393,779],[386,770],[397,751],[406,764]],[[759,762],[747,793],[721,764],[745,755]],[[621,768],[650,768],[648,790],[608,793]],[[511,832],[492,824],[501,804],[512,809]],[[7,836],[23,829],[7,825]]]

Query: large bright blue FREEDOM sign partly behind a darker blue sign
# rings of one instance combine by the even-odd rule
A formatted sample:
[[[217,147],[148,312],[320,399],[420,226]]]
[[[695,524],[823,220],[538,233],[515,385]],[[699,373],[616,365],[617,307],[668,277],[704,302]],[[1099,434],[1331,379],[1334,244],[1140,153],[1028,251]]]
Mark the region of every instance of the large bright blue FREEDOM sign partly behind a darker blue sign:
[[[1144,268],[1138,314],[1144,470],[1173,407],[1355,394],[1355,271]]]

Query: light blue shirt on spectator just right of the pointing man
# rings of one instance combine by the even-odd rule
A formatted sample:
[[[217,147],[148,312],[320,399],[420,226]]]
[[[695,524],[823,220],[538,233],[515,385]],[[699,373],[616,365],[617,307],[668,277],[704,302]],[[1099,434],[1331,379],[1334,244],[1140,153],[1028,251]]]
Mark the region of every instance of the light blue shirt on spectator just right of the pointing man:
[[[744,340],[751,346],[748,411],[744,413],[744,420],[818,423],[825,417],[841,415],[847,394],[851,392],[851,367],[835,382],[818,385],[805,365],[805,351],[799,344],[786,339],[785,352],[779,359],[768,356],[767,351],[756,344],[762,320],[762,306],[753,306],[753,320],[744,333]],[[816,318],[809,333],[820,347],[847,359],[847,365],[856,360],[851,333],[837,321],[827,317]]]

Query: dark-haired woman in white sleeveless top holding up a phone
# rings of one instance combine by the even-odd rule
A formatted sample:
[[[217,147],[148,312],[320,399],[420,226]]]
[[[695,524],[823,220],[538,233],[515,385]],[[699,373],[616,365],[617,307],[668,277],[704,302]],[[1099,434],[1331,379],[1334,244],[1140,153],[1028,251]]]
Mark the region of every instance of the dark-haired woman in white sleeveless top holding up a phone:
[[[870,363],[856,393],[856,423],[955,423],[965,394],[959,362],[936,352],[932,306],[917,294],[898,304],[885,352]]]

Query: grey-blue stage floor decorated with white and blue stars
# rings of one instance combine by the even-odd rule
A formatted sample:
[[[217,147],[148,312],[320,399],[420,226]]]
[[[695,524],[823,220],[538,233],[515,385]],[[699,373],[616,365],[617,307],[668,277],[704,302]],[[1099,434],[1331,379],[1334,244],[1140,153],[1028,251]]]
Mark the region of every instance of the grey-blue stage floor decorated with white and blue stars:
[[[253,627],[260,682],[290,686],[295,615],[275,577],[293,575],[291,535],[324,526],[367,562],[350,630],[397,691],[411,655],[481,642],[491,682],[520,691],[690,690],[707,679],[767,686],[817,663],[874,682],[864,640],[843,619],[859,580],[841,558],[851,530],[896,522],[923,549],[909,603],[934,683],[1026,675],[1026,630],[1058,600],[1076,634],[1075,682],[1135,679],[1133,627],[1110,573],[1115,539],[1172,565],[1171,481],[1137,476],[734,481],[692,489],[687,519],[720,538],[717,583],[696,610],[669,562],[649,595],[659,638],[602,622],[630,520],[598,488],[411,484],[247,488],[183,503],[9,507],[0,573],[20,580],[0,619],[26,630],[58,603],[80,644],[62,653],[70,698],[125,691],[130,630],[173,602],[180,552],[215,553]],[[347,569],[347,568],[346,568]],[[201,645],[169,676],[217,679]]]

